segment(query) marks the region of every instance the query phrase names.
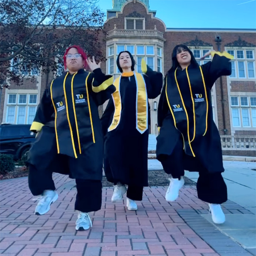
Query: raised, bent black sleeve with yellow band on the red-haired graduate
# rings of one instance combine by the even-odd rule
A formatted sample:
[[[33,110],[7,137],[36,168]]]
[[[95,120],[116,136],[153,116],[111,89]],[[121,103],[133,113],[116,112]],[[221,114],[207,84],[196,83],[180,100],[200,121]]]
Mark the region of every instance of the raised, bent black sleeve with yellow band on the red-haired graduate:
[[[113,82],[113,76],[103,74],[100,68],[95,69],[93,73],[90,74],[88,88],[98,106],[108,100],[111,94],[116,90]]]

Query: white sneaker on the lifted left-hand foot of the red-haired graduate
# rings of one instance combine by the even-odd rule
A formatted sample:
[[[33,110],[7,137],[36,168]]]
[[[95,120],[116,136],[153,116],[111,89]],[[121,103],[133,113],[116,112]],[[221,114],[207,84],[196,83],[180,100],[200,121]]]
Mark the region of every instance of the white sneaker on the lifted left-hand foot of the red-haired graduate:
[[[58,194],[53,190],[45,190],[44,193],[36,198],[39,200],[37,206],[35,207],[35,215],[46,214],[50,210],[50,205],[58,199]]]

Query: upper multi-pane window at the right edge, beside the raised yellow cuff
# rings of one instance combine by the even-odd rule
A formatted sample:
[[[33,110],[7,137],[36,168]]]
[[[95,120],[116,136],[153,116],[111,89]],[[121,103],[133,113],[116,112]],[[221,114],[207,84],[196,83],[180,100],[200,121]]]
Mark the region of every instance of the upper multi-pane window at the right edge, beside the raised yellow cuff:
[[[231,60],[232,74],[230,78],[253,79],[255,78],[255,56],[253,49],[228,49],[228,53],[234,56]]]

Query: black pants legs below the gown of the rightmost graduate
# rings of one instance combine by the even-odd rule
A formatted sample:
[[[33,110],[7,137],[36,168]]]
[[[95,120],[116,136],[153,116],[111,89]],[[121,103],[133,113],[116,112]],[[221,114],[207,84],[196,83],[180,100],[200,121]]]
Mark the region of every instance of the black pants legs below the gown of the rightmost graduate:
[[[164,171],[173,178],[180,179],[184,176],[182,154],[162,157],[161,163]],[[207,170],[199,172],[196,188],[198,198],[204,202],[222,204],[227,201],[227,186],[221,172],[208,173]]]

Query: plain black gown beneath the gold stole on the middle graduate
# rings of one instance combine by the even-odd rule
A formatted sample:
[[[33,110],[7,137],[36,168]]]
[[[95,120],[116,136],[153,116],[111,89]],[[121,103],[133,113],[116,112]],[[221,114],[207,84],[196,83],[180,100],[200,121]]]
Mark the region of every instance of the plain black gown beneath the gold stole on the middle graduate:
[[[147,67],[143,75],[146,83],[147,98],[156,98],[162,89],[162,74]],[[121,118],[117,128],[109,131],[115,106],[113,99],[101,118],[104,143],[104,170],[110,182],[121,182],[127,185],[148,186],[148,129],[140,133],[136,129],[136,82],[135,76],[122,76],[120,80]],[[146,99],[148,104],[148,99]],[[149,109],[149,108],[148,108]],[[148,118],[150,118],[148,111]]]

